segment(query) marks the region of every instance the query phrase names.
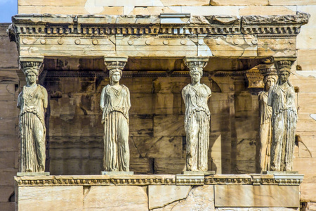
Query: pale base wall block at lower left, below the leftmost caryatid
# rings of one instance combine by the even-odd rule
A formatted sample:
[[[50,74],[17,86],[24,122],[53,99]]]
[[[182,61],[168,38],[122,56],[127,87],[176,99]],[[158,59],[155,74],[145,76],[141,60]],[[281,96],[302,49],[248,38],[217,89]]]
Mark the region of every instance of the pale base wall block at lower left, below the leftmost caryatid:
[[[15,190],[17,191],[17,190]],[[82,186],[18,187],[18,210],[82,210]]]

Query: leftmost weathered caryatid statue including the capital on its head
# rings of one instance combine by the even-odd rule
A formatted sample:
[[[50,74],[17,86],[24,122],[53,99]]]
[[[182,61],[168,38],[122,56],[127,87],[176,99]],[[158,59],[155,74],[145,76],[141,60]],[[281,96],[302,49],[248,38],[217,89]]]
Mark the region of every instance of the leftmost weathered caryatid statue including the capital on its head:
[[[46,127],[44,113],[48,105],[47,91],[37,84],[44,56],[20,56],[20,67],[27,84],[18,96],[21,136],[20,172],[44,172],[46,159]]]

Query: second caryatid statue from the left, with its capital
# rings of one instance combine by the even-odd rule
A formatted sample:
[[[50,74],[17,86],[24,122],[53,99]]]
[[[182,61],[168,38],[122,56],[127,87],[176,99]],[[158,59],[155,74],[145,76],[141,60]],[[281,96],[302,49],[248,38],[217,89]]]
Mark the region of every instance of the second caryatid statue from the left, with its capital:
[[[129,172],[129,88],[119,84],[126,57],[105,57],[110,84],[101,93],[105,172]]]

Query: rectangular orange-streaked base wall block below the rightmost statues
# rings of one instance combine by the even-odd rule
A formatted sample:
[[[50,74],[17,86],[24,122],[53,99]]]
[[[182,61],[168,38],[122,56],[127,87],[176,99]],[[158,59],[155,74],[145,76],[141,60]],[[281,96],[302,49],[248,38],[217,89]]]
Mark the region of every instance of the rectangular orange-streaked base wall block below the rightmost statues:
[[[215,207],[299,206],[299,186],[215,186]]]

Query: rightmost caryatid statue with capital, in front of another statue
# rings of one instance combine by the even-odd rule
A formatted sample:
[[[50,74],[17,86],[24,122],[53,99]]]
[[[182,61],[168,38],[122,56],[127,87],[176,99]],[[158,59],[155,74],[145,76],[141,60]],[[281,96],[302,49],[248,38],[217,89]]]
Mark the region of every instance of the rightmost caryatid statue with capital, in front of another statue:
[[[270,89],[268,105],[272,106],[271,171],[291,171],[297,112],[295,91],[289,82],[291,65],[296,58],[274,58],[277,83]]]

